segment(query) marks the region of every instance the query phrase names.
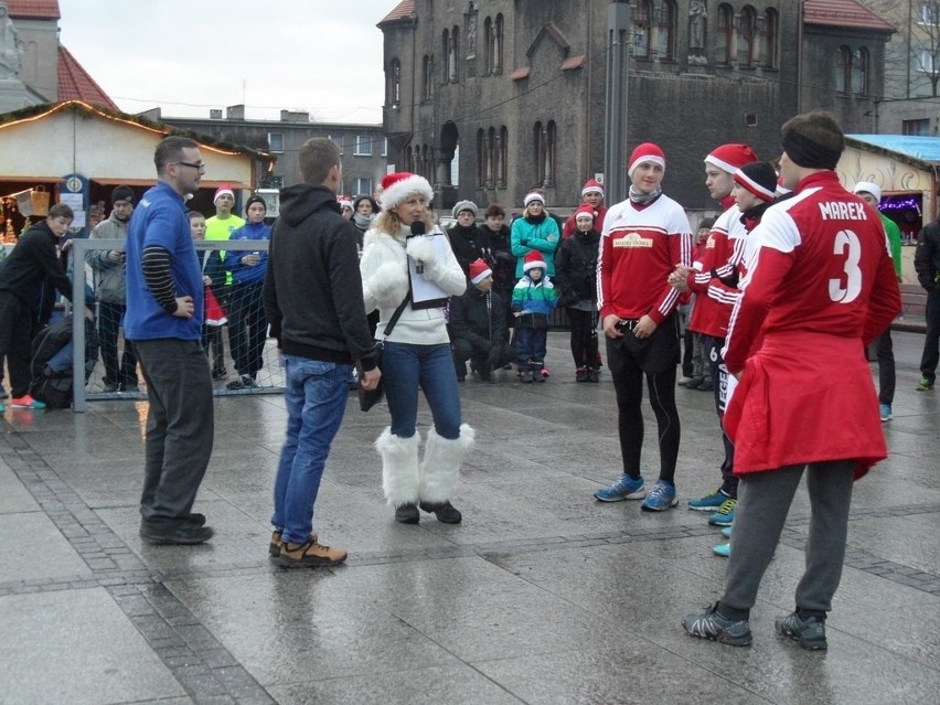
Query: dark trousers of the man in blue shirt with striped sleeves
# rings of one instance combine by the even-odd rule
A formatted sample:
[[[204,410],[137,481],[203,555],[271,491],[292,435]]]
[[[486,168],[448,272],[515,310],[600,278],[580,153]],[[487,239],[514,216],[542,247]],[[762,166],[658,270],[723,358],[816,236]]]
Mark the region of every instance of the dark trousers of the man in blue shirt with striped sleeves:
[[[172,531],[192,511],[212,456],[212,375],[197,340],[135,341],[147,382],[142,524]]]

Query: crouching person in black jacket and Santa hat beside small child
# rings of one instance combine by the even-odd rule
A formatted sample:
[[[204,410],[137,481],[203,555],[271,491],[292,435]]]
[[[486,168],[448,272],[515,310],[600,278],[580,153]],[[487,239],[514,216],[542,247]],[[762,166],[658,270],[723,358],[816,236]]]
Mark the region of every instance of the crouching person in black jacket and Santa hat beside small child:
[[[480,378],[492,378],[493,370],[515,359],[515,352],[506,344],[505,306],[500,296],[492,291],[493,273],[487,263],[477,259],[470,263],[470,284],[463,296],[450,301],[450,340],[453,346],[453,364],[457,378],[467,378],[467,361],[473,361]]]

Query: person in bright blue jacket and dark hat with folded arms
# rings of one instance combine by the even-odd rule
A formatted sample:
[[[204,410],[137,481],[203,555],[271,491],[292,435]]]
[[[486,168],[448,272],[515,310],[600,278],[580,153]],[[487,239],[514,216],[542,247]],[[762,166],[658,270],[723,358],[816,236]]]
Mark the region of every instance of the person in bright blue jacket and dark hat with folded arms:
[[[270,239],[271,228],[265,224],[267,209],[260,196],[254,195],[245,204],[248,221],[228,236],[233,239]],[[265,249],[229,249],[225,254],[225,268],[232,273],[232,299],[228,306],[228,340],[238,378],[229,382],[229,389],[257,386],[258,371],[264,366],[268,319],[265,316],[263,287],[268,253]]]

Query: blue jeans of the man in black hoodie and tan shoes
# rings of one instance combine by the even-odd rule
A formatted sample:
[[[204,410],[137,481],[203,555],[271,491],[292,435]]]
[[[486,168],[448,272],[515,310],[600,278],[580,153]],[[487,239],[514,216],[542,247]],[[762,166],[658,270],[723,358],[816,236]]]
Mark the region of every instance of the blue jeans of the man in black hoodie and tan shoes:
[[[271,524],[284,532],[284,541],[302,544],[313,531],[313,504],[346,412],[352,365],[284,355],[284,372],[287,440],[275,479]]]

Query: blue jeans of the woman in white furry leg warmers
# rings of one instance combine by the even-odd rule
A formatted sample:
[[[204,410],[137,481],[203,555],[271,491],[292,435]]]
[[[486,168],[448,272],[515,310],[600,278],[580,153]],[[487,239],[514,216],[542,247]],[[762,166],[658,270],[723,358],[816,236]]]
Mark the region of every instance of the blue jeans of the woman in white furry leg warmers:
[[[394,436],[410,438],[415,435],[420,388],[430,406],[437,435],[448,440],[460,438],[460,388],[448,343],[414,345],[386,342],[382,355],[382,380]]]

